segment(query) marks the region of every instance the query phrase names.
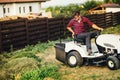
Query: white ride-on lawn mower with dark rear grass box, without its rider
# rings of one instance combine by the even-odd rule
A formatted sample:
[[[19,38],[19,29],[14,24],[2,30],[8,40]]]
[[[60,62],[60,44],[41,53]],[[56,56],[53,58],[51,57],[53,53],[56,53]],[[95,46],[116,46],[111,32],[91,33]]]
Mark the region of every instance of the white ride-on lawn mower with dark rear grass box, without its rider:
[[[86,45],[75,41],[55,44],[56,59],[71,66],[106,63],[111,70],[120,67],[120,35],[101,34],[95,38],[92,55],[88,55]]]

